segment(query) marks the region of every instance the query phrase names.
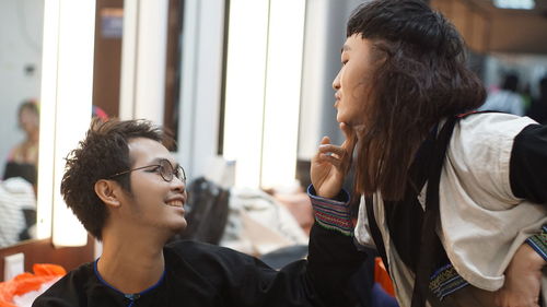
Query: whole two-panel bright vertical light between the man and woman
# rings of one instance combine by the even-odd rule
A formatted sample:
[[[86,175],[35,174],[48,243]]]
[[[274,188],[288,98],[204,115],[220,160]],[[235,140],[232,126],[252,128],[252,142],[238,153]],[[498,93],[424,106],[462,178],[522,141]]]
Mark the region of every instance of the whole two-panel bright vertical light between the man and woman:
[[[238,187],[294,182],[305,0],[230,2],[224,158]]]

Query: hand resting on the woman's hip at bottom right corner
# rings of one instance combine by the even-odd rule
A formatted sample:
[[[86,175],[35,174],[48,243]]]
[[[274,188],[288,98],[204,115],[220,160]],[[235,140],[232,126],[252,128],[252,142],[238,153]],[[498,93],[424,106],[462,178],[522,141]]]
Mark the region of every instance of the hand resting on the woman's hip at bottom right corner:
[[[505,270],[505,283],[494,293],[500,307],[539,307],[542,268],[545,260],[529,245],[516,250]]]

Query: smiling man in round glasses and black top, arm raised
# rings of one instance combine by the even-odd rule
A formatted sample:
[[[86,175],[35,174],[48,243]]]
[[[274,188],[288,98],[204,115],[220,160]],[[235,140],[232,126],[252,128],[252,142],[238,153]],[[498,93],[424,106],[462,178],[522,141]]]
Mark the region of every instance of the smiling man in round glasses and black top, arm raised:
[[[363,255],[345,205],[314,203],[309,259],[280,271],[218,246],[165,246],[186,227],[186,176],[163,141],[144,120],[92,123],[67,161],[61,193],[103,255],[33,306],[352,306],[348,283]]]

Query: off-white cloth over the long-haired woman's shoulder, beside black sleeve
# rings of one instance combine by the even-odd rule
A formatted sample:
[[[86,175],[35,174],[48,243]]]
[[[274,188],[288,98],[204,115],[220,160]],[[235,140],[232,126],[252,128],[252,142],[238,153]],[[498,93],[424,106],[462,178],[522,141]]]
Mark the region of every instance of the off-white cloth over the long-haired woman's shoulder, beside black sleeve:
[[[439,237],[458,274],[496,291],[520,245],[547,210],[516,198],[509,179],[513,140],[529,118],[472,115],[454,129],[439,187]]]

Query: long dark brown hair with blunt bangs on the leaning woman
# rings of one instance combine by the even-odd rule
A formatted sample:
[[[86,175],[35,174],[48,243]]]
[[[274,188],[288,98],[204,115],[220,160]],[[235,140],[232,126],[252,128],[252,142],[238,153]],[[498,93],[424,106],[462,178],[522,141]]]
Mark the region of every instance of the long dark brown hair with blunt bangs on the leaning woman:
[[[373,0],[351,15],[347,36],[372,42],[381,60],[371,80],[357,156],[356,190],[404,197],[420,143],[440,119],[484,103],[481,81],[465,63],[464,43],[422,0]]]

